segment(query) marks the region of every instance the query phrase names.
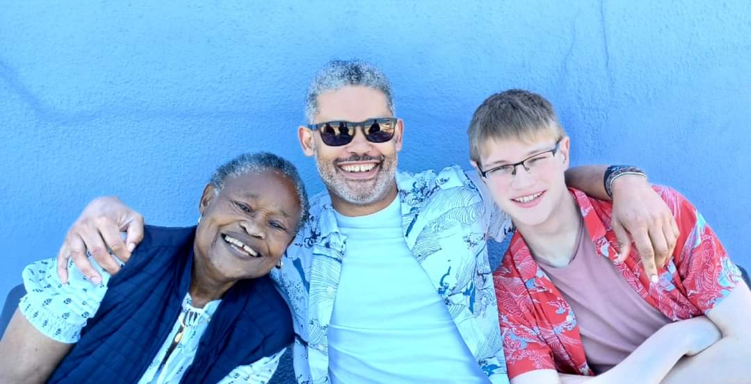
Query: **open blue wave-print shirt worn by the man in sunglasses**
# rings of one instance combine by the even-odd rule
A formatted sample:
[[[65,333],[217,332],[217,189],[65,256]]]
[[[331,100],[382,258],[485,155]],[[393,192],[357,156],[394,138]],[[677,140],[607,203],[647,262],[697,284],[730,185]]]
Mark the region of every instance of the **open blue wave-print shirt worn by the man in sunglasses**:
[[[458,166],[438,173],[397,172],[397,187],[409,249],[479,367],[492,383],[508,383],[486,240],[510,233],[510,218],[496,207],[478,176]],[[328,193],[311,200],[310,215],[287,249],[282,269],[271,272],[293,314],[294,370],[300,384],[330,383],[327,329],[347,241]]]

